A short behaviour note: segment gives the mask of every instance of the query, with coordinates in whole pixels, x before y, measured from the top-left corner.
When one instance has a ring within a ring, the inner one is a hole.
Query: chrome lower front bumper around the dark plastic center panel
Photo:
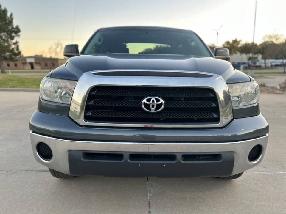
[[[236,142],[209,143],[153,143],[153,142],[103,142],[103,141],[72,141],[52,138],[30,132],[32,150],[36,161],[51,169],[70,174],[69,151],[110,151],[110,152],[234,152],[232,174],[237,174],[258,165],[264,157],[268,134],[255,139]],[[39,142],[49,145],[53,152],[50,161],[43,160],[37,153]],[[257,144],[262,146],[262,154],[254,161],[248,161],[248,153]]]

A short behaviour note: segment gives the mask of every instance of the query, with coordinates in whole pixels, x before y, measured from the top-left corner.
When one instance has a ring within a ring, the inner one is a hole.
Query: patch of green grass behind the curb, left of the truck
[[[39,88],[44,76],[0,74],[0,88]]]

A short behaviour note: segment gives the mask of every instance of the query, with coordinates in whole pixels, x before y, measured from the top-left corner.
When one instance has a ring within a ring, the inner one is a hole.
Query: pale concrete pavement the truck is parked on
[[[286,95],[262,94],[270,124],[262,163],[237,180],[56,179],[32,155],[38,92],[0,91],[0,213],[286,213]]]

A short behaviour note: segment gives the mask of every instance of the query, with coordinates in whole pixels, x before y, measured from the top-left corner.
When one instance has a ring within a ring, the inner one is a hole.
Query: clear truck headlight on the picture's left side
[[[76,83],[77,81],[45,77],[40,85],[41,98],[52,102],[70,104]]]

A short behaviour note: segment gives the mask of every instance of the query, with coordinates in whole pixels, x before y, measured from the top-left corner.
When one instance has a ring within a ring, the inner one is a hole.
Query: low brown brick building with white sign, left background
[[[43,57],[43,56],[23,56],[17,57],[15,62],[4,62],[5,70],[40,70],[55,69],[66,63],[66,59]]]

